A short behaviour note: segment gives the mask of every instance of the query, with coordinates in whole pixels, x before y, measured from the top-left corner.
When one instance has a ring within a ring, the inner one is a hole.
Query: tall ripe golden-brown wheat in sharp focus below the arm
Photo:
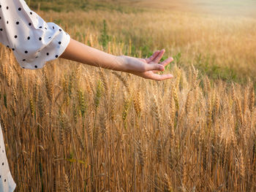
[[[252,83],[173,74],[155,82],[64,60],[24,70],[2,48],[17,191],[254,191]]]

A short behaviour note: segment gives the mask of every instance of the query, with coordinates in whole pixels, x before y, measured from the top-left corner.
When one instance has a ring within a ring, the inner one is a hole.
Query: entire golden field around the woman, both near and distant
[[[27,2],[113,55],[165,48],[174,78],[61,58],[22,69],[1,45],[1,127],[16,191],[256,191],[253,1]]]

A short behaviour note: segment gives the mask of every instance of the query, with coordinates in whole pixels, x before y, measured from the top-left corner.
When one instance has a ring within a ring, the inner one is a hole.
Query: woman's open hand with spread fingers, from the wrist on
[[[151,80],[167,80],[173,78],[173,74],[157,74],[165,70],[165,66],[173,61],[173,58],[167,58],[162,63],[161,60],[165,50],[157,50],[149,58],[134,58],[126,55],[118,56],[124,62],[124,72],[129,72],[140,77]]]

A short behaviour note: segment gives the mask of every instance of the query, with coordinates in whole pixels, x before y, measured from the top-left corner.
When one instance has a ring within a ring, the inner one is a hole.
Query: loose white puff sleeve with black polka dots
[[[23,69],[40,69],[59,58],[70,36],[56,23],[46,23],[23,0],[0,0],[0,42],[12,49]]]

